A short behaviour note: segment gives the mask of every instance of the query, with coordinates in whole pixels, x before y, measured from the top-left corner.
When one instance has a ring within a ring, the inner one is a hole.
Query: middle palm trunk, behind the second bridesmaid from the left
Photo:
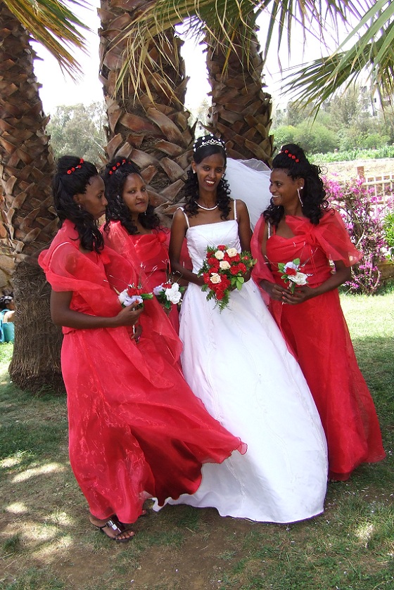
[[[156,44],[151,44],[149,53],[159,60],[160,67],[144,70],[137,93],[128,77],[122,89],[116,89],[125,49],[119,38],[134,18],[135,11],[127,10],[131,4],[101,0],[98,10],[101,81],[108,109],[106,150],[109,159],[123,155],[139,165],[151,203],[158,206],[177,199],[190,164],[193,129],[189,127],[190,113],[184,108],[187,78],[179,52],[182,41],[168,33],[165,53],[159,54]],[[140,10],[140,5],[136,10]],[[144,75],[150,81],[150,96],[144,86]],[[163,89],[165,78],[170,80],[174,96]]]

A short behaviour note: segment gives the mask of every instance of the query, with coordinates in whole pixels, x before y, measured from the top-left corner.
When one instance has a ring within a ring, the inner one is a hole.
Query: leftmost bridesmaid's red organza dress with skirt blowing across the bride
[[[72,291],[70,307],[115,316],[119,291],[136,280],[129,262],[110,248],[79,250],[65,222],[39,264],[53,290]],[[205,462],[245,451],[205,411],[179,371],[180,341],[155,300],[145,302],[143,333],[131,328],[63,328],[61,364],[68,395],[70,462],[91,513],[134,522],[144,499],[193,493]]]

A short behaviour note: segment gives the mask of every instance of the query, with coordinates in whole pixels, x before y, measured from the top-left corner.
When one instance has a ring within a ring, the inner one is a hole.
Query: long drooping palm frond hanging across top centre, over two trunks
[[[361,0],[152,0],[118,34],[116,42],[127,46],[123,53],[127,68],[120,71],[117,87],[128,75],[134,92],[138,90],[144,68],[152,71],[160,67],[148,48],[154,44],[160,58],[165,58],[165,31],[180,23],[187,21],[187,32],[195,39],[208,33],[212,44],[220,47],[224,54],[229,55],[241,47],[243,56],[248,56],[256,18],[263,11],[269,13],[266,53],[275,29],[279,32],[279,45],[285,30],[290,43],[294,21],[300,22],[305,30],[310,23],[317,23],[322,31],[326,18],[330,17],[335,24],[349,12],[360,15],[360,6]]]

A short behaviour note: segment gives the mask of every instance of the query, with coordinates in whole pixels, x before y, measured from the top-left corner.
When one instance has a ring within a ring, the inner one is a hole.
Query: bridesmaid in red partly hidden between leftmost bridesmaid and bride
[[[149,203],[148,191],[139,168],[133,162],[127,158],[114,158],[106,165],[102,177],[106,185],[107,216],[110,219],[102,228],[104,241],[129,259],[137,255],[146,277],[146,289],[151,291],[167,281],[170,271],[170,229],[160,224],[160,218]],[[187,267],[189,255],[186,244],[182,255],[182,262]],[[169,319],[174,330],[179,333],[176,305],[171,306]]]

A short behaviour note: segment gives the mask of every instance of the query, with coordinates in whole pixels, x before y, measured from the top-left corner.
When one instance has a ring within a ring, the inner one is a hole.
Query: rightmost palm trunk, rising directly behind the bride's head
[[[269,135],[272,101],[271,96],[263,91],[264,62],[257,37],[250,43],[248,56],[236,39],[235,49],[229,56],[209,34],[205,42],[208,44],[207,68],[212,89],[210,129],[225,141],[231,158],[257,158],[269,165],[274,151],[274,136]],[[227,70],[223,73],[227,57]]]

